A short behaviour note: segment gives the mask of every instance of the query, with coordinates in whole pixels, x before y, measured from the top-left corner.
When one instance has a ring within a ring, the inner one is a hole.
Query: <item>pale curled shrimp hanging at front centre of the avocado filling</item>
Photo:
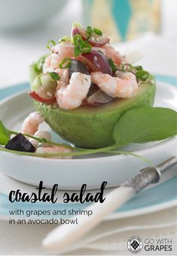
[[[74,109],[78,108],[90,89],[90,75],[75,72],[72,73],[69,85],[63,85],[58,81],[56,89],[56,101],[60,108]]]

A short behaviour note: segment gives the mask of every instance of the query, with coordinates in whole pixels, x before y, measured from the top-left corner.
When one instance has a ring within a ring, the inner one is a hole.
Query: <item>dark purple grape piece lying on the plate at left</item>
[[[10,142],[8,142],[8,144],[5,145],[5,148],[15,151],[32,153],[35,152],[35,147],[32,145],[31,142],[29,142],[28,139],[26,139],[25,136],[23,136],[22,133],[19,133],[17,136],[11,139]]]

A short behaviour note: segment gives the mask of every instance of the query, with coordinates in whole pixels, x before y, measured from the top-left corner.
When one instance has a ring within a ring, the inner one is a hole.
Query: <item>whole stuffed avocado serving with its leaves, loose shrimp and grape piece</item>
[[[50,53],[30,68],[36,111],[20,133],[0,120],[0,151],[58,159],[104,152],[142,158],[117,148],[176,135],[176,111],[152,108],[154,76],[133,66],[101,30],[75,23],[71,37],[50,40],[47,48]],[[41,130],[44,122],[71,144],[53,142]]]

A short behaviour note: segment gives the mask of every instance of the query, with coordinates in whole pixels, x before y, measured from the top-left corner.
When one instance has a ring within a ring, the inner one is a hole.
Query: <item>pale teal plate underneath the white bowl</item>
[[[177,86],[176,77],[172,76],[161,76],[156,75],[158,81],[172,84]],[[17,86],[10,86],[5,89],[0,89],[0,100],[16,93],[23,89],[28,89],[29,83],[23,83]],[[121,208],[111,214],[107,219],[118,219],[124,217],[133,217],[141,214],[148,214],[154,211],[160,211],[166,208],[170,208],[177,204],[177,176],[172,177],[172,179],[161,183],[159,186],[155,186],[151,189],[139,192],[139,194],[134,195],[133,198],[124,204]],[[83,210],[89,204],[48,204],[48,203],[20,203],[16,202],[11,204],[8,201],[8,195],[0,194],[0,217],[8,218],[10,217],[9,210],[15,210],[20,208],[22,210],[62,210],[66,208]],[[52,217],[50,215],[50,217]],[[63,217],[63,216],[58,216]],[[65,216],[67,217],[67,215]],[[44,216],[43,216],[44,218]],[[47,217],[46,217],[47,218]]]

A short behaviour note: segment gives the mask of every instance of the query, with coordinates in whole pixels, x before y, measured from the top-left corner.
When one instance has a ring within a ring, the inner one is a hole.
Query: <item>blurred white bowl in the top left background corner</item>
[[[0,30],[20,30],[46,22],[67,0],[0,0]]]

